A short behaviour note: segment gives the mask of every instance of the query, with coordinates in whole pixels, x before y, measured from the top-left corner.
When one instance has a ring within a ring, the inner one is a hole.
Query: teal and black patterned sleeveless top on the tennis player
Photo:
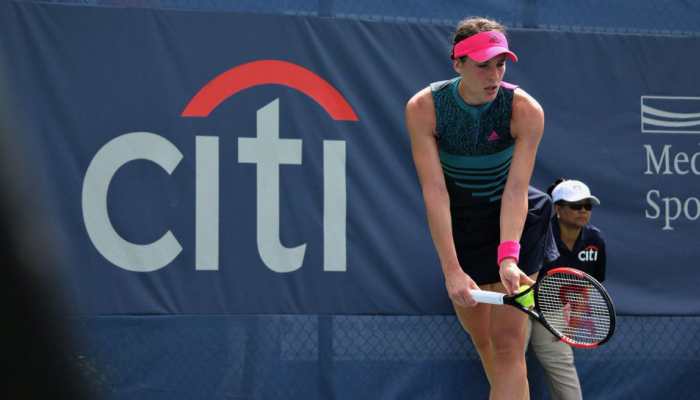
[[[459,95],[460,80],[430,84],[450,204],[452,208],[500,204],[513,158],[510,119],[517,86],[503,83],[493,101],[471,106]]]

